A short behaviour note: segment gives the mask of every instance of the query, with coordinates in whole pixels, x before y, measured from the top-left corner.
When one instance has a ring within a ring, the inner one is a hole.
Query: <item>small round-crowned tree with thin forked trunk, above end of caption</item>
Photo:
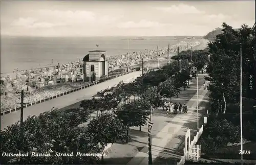
[[[110,143],[113,144],[118,140],[123,140],[125,128],[114,113],[101,113],[96,119],[89,123],[88,132],[91,135],[92,142],[95,145],[100,144],[103,153],[106,145]],[[104,155],[102,154],[102,161],[103,158]]]

